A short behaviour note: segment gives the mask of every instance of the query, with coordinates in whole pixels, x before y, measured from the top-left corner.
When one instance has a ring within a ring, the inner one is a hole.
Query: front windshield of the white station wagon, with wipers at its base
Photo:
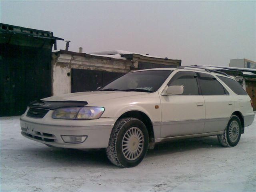
[[[170,70],[148,70],[128,73],[100,88],[99,91],[155,92],[171,72]]]

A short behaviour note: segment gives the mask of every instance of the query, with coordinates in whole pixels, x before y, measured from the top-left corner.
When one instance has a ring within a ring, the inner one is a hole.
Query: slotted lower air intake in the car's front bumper
[[[46,141],[46,142],[57,142],[57,138],[55,135],[50,133],[43,133],[34,131],[33,133],[28,133],[26,128],[21,128],[22,132],[21,134],[30,138],[34,138],[39,141]]]

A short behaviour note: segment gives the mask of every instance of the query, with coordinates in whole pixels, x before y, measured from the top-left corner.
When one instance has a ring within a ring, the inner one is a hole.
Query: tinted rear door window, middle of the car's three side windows
[[[198,75],[202,95],[228,94],[222,84],[220,84],[214,76],[204,73],[198,73]]]

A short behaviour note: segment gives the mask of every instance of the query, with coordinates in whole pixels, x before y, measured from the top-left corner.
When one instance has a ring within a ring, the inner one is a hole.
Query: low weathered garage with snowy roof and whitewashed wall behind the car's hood
[[[52,53],[52,95],[94,91],[133,70],[181,66],[181,60],[122,50]]]

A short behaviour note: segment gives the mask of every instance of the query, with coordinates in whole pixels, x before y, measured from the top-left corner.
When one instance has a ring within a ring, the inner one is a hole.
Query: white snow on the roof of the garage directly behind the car
[[[124,50],[108,50],[108,51],[90,52],[88,54],[94,55],[94,56],[106,56],[106,57],[112,57],[112,58],[118,58],[118,59],[120,59],[120,58],[126,59],[126,58],[122,57],[122,55],[137,54],[137,55],[141,55],[141,56],[145,56],[145,57],[166,59],[166,58],[162,58],[162,57],[158,57],[158,56],[140,54],[140,53],[124,51]],[[168,60],[168,58],[166,60]]]

